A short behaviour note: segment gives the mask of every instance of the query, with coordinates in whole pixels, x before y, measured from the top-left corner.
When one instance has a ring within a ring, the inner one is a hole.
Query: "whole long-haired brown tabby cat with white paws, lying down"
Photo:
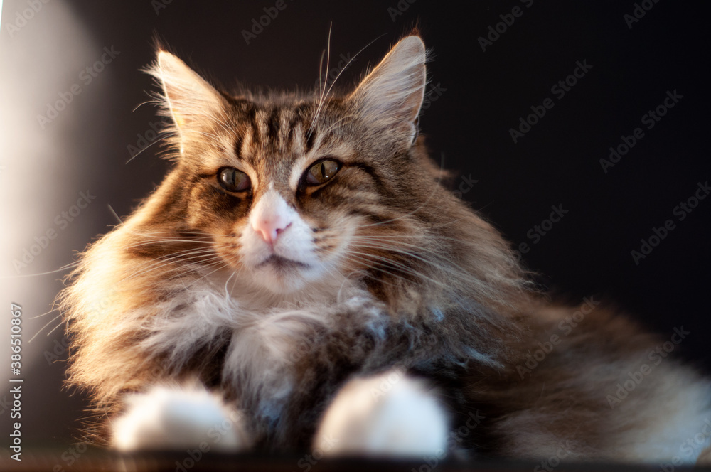
[[[442,184],[417,129],[426,62],[413,33],[354,90],[230,95],[159,48],[173,167],[60,294],[97,442],[684,463],[709,447],[710,380],[595,297],[548,301]]]

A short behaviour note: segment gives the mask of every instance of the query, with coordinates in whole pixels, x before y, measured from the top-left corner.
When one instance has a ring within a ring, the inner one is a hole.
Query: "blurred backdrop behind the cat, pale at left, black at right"
[[[711,370],[707,4],[5,0],[1,10],[0,343],[10,304],[21,305],[26,448],[69,448],[87,406],[62,387],[67,340],[49,312],[61,268],[117,223],[109,205],[129,214],[169,165],[139,72],[156,36],[225,87],[308,89],[329,24],[329,77],[355,57],[343,86],[417,25],[432,49],[420,127],[456,172],[452,191],[547,287],[573,303],[614,301],[662,338],[683,326],[677,352]]]

